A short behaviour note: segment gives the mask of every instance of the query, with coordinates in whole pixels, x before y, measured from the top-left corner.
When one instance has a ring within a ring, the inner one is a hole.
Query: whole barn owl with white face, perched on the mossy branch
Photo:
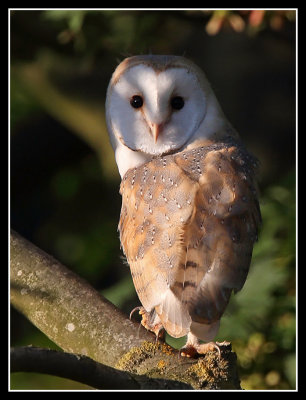
[[[187,335],[182,355],[220,351],[213,340],[231,293],[244,285],[260,224],[256,159],[205,74],[184,57],[122,61],[106,121],[142,324],[157,336]]]

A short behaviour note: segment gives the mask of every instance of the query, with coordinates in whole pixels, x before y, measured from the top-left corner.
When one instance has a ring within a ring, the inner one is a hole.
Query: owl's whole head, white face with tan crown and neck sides
[[[220,129],[224,115],[194,63],[179,56],[145,55],[126,58],[113,73],[106,121],[123,175],[152,156],[209,138]],[[131,156],[131,151],[138,154]],[[124,166],[122,157],[129,158]]]

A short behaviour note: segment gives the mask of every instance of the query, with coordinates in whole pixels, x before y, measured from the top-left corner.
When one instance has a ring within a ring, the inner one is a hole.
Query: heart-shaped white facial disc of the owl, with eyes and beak
[[[161,155],[179,150],[196,132],[205,118],[206,97],[187,68],[155,71],[139,64],[114,84],[107,113],[109,128],[122,144]]]

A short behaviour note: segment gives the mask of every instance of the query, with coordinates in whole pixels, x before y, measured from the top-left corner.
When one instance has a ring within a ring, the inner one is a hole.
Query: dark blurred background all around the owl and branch
[[[244,389],[295,388],[295,10],[10,10],[10,223],[128,313],[139,305],[119,248],[119,174],[104,102],[116,65],[176,54],[206,72],[260,160],[263,226],[219,340]],[[175,346],[182,341],[169,342]],[[11,345],[55,347],[11,310]],[[12,389],[77,389],[11,375]]]

